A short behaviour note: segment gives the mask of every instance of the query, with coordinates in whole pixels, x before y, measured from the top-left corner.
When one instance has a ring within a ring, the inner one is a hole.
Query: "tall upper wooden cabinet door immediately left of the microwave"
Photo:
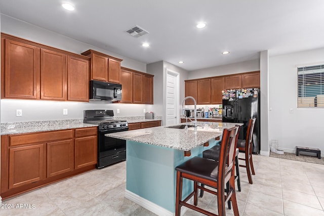
[[[89,101],[89,61],[67,56],[67,100]]]

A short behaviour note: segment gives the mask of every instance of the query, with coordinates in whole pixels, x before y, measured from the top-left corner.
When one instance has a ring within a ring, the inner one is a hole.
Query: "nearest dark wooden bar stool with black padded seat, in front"
[[[205,209],[199,208],[198,190],[204,190],[217,195],[218,215],[225,215],[225,203],[231,201],[234,215],[239,215],[236,196],[235,196],[235,176],[234,176],[234,158],[235,158],[235,136],[238,127],[224,129],[219,160],[214,161],[207,158],[193,157],[176,167],[177,188],[176,188],[176,213],[179,216],[181,206],[186,206],[193,210],[207,215],[217,215]],[[182,200],[182,180],[183,178],[193,181],[193,192]],[[225,184],[229,182],[229,191],[225,193]],[[198,185],[198,183],[217,188],[213,191]],[[193,196],[193,205],[187,201]]]

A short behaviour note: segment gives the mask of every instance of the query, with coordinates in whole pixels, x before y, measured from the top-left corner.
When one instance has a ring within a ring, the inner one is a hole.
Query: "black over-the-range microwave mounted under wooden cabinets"
[[[91,101],[121,100],[121,84],[91,80],[89,89]]]

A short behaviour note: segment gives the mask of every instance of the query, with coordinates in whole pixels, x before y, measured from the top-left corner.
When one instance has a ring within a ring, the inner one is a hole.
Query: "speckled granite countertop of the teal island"
[[[224,128],[233,127],[235,124],[239,123],[198,122],[196,128],[189,127],[188,129],[177,129],[159,126],[111,133],[105,136],[189,151],[199,145],[203,145],[211,139],[221,136]],[[192,123],[188,123],[188,125],[192,125]]]

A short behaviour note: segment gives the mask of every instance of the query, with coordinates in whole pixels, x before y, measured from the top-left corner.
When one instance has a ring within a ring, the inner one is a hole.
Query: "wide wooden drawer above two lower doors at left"
[[[72,130],[35,133],[27,135],[11,135],[9,137],[9,146],[17,146],[29,143],[49,142],[73,138]]]

